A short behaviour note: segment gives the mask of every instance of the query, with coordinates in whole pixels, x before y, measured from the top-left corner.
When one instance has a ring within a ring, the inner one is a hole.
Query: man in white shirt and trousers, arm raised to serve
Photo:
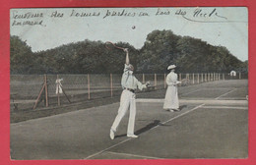
[[[138,138],[134,135],[134,125],[135,125],[135,116],[136,116],[136,102],[135,102],[135,90],[139,88],[147,88],[150,83],[142,84],[134,76],[134,68],[129,62],[128,49],[124,49],[126,52],[126,62],[124,65],[123,76],[121,80],[121,85],[123,87],[123,92],[120,99],[120,107],[118,109],[118,114],[115,117],[115,120],[110,129],[110,138],[114,139],[114,133],[117,131],[117,128],[125,116],[128,109],[130,109],[129,123],[127,129],[127,137],[129,138]]]

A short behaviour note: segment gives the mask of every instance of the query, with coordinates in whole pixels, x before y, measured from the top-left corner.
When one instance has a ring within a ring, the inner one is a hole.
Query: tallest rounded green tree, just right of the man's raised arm
[[[138,58],[139,72],[162,73],[177,57],[176,44],[180,36],[171,30],[154,30],[148,34]]]

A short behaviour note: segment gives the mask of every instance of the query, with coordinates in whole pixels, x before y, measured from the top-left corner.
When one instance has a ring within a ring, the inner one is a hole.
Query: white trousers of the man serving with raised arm
[[[121,94],[120,107],[118,109],[118,114],[115,117],[115,120],[111,127],[112,131],[116,132],[121,120],[123,119],[123,117],[125,116],[129,108],[130,108],[130,115],[129,115],[127,135],[134,135],[136,101],[135,101],[135,93],[129,90],[123,90]]]

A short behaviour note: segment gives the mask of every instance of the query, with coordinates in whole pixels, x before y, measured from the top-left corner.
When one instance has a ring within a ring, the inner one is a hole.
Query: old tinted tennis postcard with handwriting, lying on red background
[[[12,160],[248,158],[246,7],[13,8]]]

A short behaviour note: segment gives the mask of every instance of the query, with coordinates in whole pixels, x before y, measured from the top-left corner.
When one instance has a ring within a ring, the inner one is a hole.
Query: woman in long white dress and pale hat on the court
[[[177,74],[174,73],[175,68],[175,65],[170,65],[167,68],[168,70],[170,70],[170,73],[166,77],[166,83],[168,87],[165,93],[165,99],[163,103],[163,109],[170,112],[179,111],[177,84],[181,82],[177,81]]]

